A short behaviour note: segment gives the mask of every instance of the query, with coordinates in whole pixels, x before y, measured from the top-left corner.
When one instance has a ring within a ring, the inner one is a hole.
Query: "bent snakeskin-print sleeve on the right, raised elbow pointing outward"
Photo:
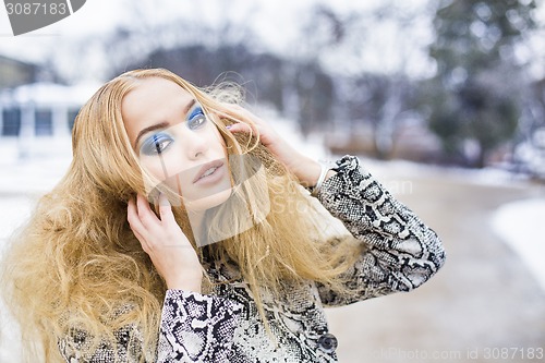
[[[427,281],[445,262],[437,234],[364,171],[355,157],[344,156],[334,170],[337,173],[324,182],[318,199],[365,249],[347,271],[347,286],[354,293],[343,297],[320,286],[323,303],[344,305],[410,291]]]

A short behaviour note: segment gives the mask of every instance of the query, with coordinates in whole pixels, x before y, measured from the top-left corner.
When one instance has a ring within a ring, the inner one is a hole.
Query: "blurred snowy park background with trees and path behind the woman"
[[[542,361],[544,25],[540,0],[92,0],[14,37],[2,8],[0,252],[100,84],[234,81],[303,153],[358,155],[445,242],[416,291],[328,311],[340,362]],[[17,362],[0,318],[0,362]]]

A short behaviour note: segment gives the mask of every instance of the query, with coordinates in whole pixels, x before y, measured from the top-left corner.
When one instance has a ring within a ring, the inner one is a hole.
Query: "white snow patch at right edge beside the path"
[[[545,238],[540,228],[545,216],[545,198],[508,203],[491,219],[494,231],[526,263],[545,290]]]

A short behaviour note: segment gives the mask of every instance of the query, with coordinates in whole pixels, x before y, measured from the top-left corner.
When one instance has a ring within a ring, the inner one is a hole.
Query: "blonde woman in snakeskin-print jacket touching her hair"
[[[140,70],[81,109],[66,176],[5,257],[8,304],[47,362],[336,362],[323,306],[443,265],[358,159],[320,166],[237,96]],[[328,237],[316,198],[350,234]]]

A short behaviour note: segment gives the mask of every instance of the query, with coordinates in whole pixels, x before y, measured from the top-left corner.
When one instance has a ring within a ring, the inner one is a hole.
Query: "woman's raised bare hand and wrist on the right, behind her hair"
[[[267,147],[269,152],[288,168],[288,170],[298,177],[301,184],[304,186],[313,186],[316,184],[322,169],[316,160],[299,153],[267,122],[256,117],[249,110],[238,105],[229,105],[227,107],[231,110],[231,112],[227,116],[241,118],[242,121],[251,121],[255,124],[255,128],[257,129],[256,131],[259,133],[259,142]],[[229,126],[229,131],[233,133],[250,132],[250,129],[245,123],[234,123]],[[334,171],[329,171],[328,177]]]

